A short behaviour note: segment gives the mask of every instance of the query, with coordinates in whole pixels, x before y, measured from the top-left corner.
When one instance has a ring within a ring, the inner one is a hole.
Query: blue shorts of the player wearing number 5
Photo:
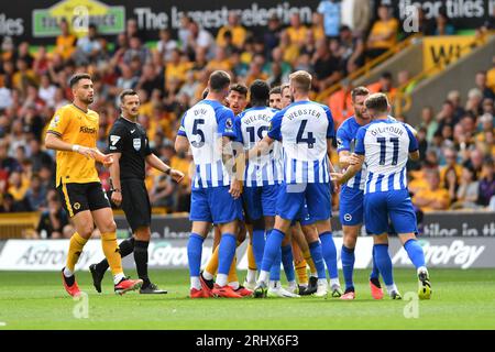
[[[190,221],[228,223],[243,220],[241,198],[233,199],[230,186],[193,189],[190,194]]]

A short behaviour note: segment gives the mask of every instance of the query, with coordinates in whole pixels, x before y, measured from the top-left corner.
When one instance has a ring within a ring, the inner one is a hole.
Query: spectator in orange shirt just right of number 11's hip
[[[438,169],[431,168],[426,172],[428,188],[421,189],[413,197],[415,206],[421,211],[447,210],[450,206],[449,191],[440,188],[440,176]]]

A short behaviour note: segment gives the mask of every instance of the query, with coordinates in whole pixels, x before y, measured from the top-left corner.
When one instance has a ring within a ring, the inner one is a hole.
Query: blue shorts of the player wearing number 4
[[[330,219],[331,207],[329,184],[280,185],[277,216],[283,219],[311,224]]]

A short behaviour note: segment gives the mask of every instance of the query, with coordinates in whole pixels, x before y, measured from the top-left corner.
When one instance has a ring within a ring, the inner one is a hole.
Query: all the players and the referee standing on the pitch
[[[88,108],[94,100],[90,76],[75,75],[70,87],[74,101],[55,112],[45,140],[46,147],[57,151],[57,188],[76,228],[62,271],[64,287],[72,296],[80,294],[75,265],[95,223],[106,255],[90,266],[98,292],[110,267],[118,294],[133,289],[166,294],[147,276],[151,206],[144,186],[145,163],[176,182],[184,174],[151,153],[146,131],[136,122],[140,100],[135,91],[121,94],[122,114],[110,132],[109,154],[103,154],[96,148],[98,113]],[[417,270],[419,298],[430,298],[429,274],[416,240],[416,215],[407,190],[407,160],[419,157],[416,132],[388,114],[385,95],[354,88],[354,116],[337,131],[339,164],[344,170],[337,173],[330,162],[336,138],[332,114],[309,99],[311,75],[304,70],[272,89],[263,80],[249,88],[231,85],[229,74],[217,70],[209,77],[204,100],[184,114],[175,148],[190,151],[195,166],[187,245],[190,297],[331,295],[354,299],[354,248],[364,223],[374,239],[372,296],[384,296],[382,275],[388,295],[402,298],[388,254],[392,228]],[[250,108],[244,110],[248,96]],[[109,166],[111,200],[122,206],[133,231],[120,245],[95,162]],[[330,224],[332,189],[340,189],[345,290],[340,286]],[[202,244],[212,226],[213,253],[201,272]],[[240,285],[235,250],[248,235],[249,270]],[[123,274],[121,257],[131,253],[139,279]],[[280,285],[280,264],[286,288]]]

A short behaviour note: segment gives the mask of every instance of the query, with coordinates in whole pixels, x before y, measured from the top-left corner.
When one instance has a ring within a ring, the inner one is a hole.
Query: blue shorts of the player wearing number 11
[[[364,195],[364,226],[370,234],[389,231],[388,219],[396,233],[417,233],[416,213],[407,189]]]

